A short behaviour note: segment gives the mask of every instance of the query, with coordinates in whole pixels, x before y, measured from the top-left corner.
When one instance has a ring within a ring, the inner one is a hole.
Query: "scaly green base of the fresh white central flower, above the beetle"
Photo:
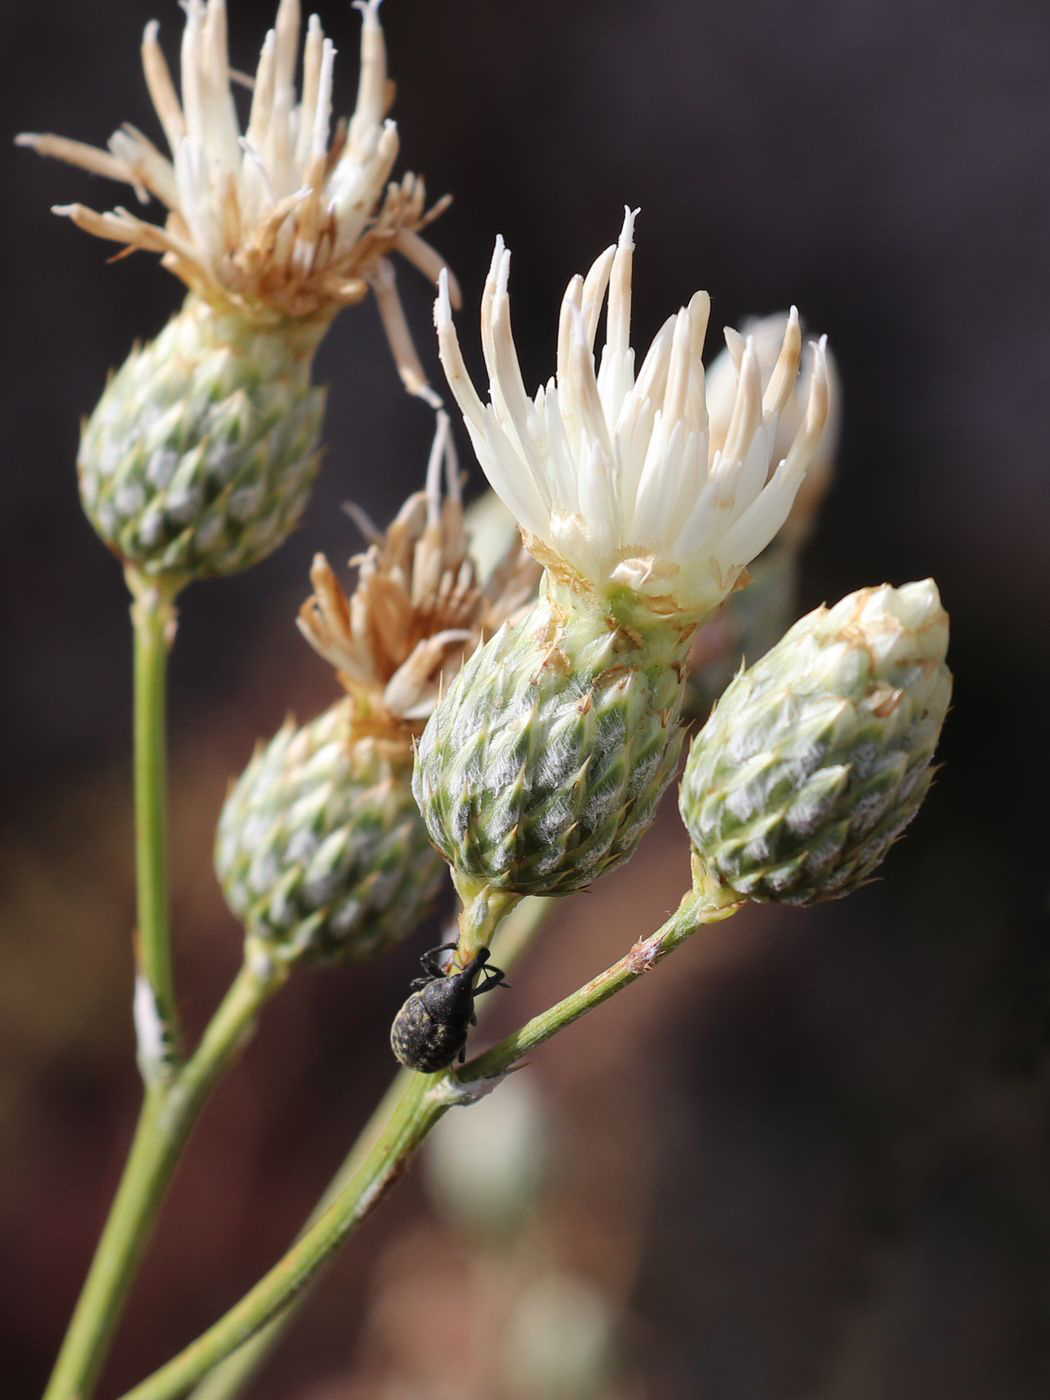
[[[413,790],[452,868],[510,893],[568,895],[622,865],[678,763],[692,631],[626,588],[601,599],[546,574],[419,743]]]

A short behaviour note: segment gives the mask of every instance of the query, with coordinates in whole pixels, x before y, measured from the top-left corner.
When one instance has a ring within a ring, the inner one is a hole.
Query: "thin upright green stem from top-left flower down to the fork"
[[[134,876],[139,937],[136,1030],[147,1085],[178,1054],[168,917],[167,672],[175,631],[174,588],[127,571],[134,595]]]

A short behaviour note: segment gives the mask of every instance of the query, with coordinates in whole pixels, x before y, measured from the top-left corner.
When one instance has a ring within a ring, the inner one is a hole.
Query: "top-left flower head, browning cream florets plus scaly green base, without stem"
[[[298,0],[281,0],[241,130],[224,0],[189,0],[179,99],[151,21],[143,70],[169,155],[126,123],[106,150],[18,137],[42,155],[129,185],[167,210],[154,224],[118,206],[55,213],[146,249],[188,288],[167,328],[136,347],[84,426],[78,476],[91,524],[125,563],[169,588],[265,559],[298,522],[318,470],[325,391],[314,354],[336,314],[375,293],[407,388],[434,398],[407,335],[391,255],[427,276],[420,238],[444,207],[423,181],[388,186],[398,130],[379,3],[358,7],[361,74],[351,118],[332,127],[335,49],[316,15],[295,92]]]

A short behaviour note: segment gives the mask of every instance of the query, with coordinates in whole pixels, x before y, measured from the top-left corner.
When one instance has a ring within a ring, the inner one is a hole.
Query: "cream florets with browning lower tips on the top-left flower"
[[[379,27],[379,0],[358,3],[361,73],[357,105],[332,125],[336,50],[311,15],[302,46],[302,91],[295,91],[298,0],[280,0],[259,55],[255,78],[230,69],[225,0],[186,0],[182,98],[157,41],[146,27],[143,69],[171,155],[125,125],[108,150],[60,136],[25,133],[17,140],[43,155],[130,185],[140,203],[154,196],[167,221],[148,223],[127,209],[97,213],[57,206],[101,238],[162,255],[164,266],[202,295],[237,309],[314,315],[360,301],[377,286],[391,330],[385,255],[402,253],[437,277],[441,259],[419,230],[444,207],[424,209],[423,181],[405,175],[388,185],[398,157],[398,129],[385,120],[392,88]],[[232,83],[252,88],[241,130]],[[402,318],[403,321],[403,318]]]

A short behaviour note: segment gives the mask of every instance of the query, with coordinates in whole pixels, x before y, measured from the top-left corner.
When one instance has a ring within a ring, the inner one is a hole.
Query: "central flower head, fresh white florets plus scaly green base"
[[[799,364],[794,311],[764,382],[745,343],[714,451],[700,358],[707,293],[668,318],[636,377],[633,256],[627,210],[617,244],[570,281],[557,374],[529,399],[511,336],[510,252],[497,241],[482,301],[487,406],[442,281],[435,316],[449,388],[486,476],[545,566],[535,608],[473,655],[420,741],[416,795],[470,895],[566,895],[631,855],[678,764],[693,634],[784,524],[820,442],[823,342],[794,441],[771,458]]]

